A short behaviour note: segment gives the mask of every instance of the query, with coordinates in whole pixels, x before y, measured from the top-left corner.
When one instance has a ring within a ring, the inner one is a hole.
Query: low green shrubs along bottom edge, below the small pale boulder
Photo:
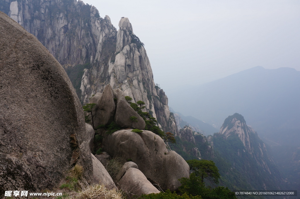
[[[160,192],[158,194],[141,195],[140,199],[201,199],[201,196],[191,196],[186,193],[178,195],[176,192],[172,193],[168,189],[166,192]]]

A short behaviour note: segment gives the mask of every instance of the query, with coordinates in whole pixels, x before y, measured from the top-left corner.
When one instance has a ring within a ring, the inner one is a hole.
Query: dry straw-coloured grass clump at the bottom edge
[[[76,199],[122,199],[122,192],[116,189],[107,189],[103,185],[90,185],[84,191],[80,192]]]

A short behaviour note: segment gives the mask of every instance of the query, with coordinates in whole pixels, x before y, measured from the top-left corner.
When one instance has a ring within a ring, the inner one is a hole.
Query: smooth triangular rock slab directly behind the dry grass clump
[[[109,189],[116,189],[116,185],[113,182],[113,179],[110,177],[110,174],[106,171],[105,167],[101,162],[91,154],[93,160],[93,183],[100,183],[106,186]]]

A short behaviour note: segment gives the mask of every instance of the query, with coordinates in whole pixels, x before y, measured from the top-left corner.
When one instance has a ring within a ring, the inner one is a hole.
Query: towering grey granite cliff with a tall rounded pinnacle
[[[101,18],[94,6],[80,0],[0,0],[0,10],[35,35],[69,71],[82,103],[110,84],[135,102],[144,101],[163,130],[176,134],[167,96],[155,87],[146,50],[128,18],[121,18],[117,31],[109,16]]]

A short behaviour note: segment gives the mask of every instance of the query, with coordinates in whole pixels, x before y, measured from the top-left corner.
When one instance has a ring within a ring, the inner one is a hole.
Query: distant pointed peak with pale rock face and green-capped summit
[[[220,132],[209,137],[209,141],[217,154],[214,161],[219,166],[221,175],[228,177],[227,183],[231,181],[232,176],[239,173],[244,180],[240,178],[239,185],[236,180],[234,186],[260,190],[282,187],[283,179],[267,147],[257,133],[247,126],[242,115],[235,113],[227,117]],[[248,187],[243,185],[245,182],[248,183]]]

